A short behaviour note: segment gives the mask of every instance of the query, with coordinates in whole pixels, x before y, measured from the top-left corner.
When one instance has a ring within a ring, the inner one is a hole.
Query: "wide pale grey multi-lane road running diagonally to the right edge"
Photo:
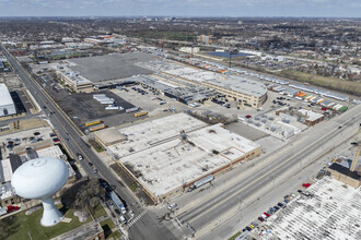
[[[307,164],[306,159],[310,156],[321,155],[333,148],[337,144],[338,137],[348,128],[354,128],[356,132],[354,123],[359,123],[360,119],[361,106],[357,106],[339,117],[319,123],[312,133],[294,141],[292,145],[286,146],[281,153],[265,157],[263,166],[256,166],[256,172],[245,172],[242,181],[237,184],[208,197],[207,201],[199,202],[184,213],[179,213],[177,218],[182,223],[189,223],[196,231],[209,226],[214,219],[222,217],[224,220],[223,216],[226,213],[230,214],[229,217],[236,214],[234,207],[241,203],[247,205],[245,204],[246,201],[257,201],[258,197],[277,188],[275,182],[287,182],[295,172],[301,170],[301,165]],[[339,128],[340,125],[341,128]]]

